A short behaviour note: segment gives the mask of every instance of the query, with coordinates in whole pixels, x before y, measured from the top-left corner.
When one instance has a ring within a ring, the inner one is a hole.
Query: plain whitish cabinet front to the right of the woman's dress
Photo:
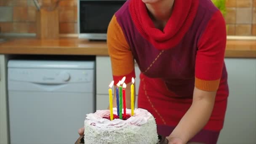
[[[256,59],[225,59],[229,98],[218,144],[256,144]]]

